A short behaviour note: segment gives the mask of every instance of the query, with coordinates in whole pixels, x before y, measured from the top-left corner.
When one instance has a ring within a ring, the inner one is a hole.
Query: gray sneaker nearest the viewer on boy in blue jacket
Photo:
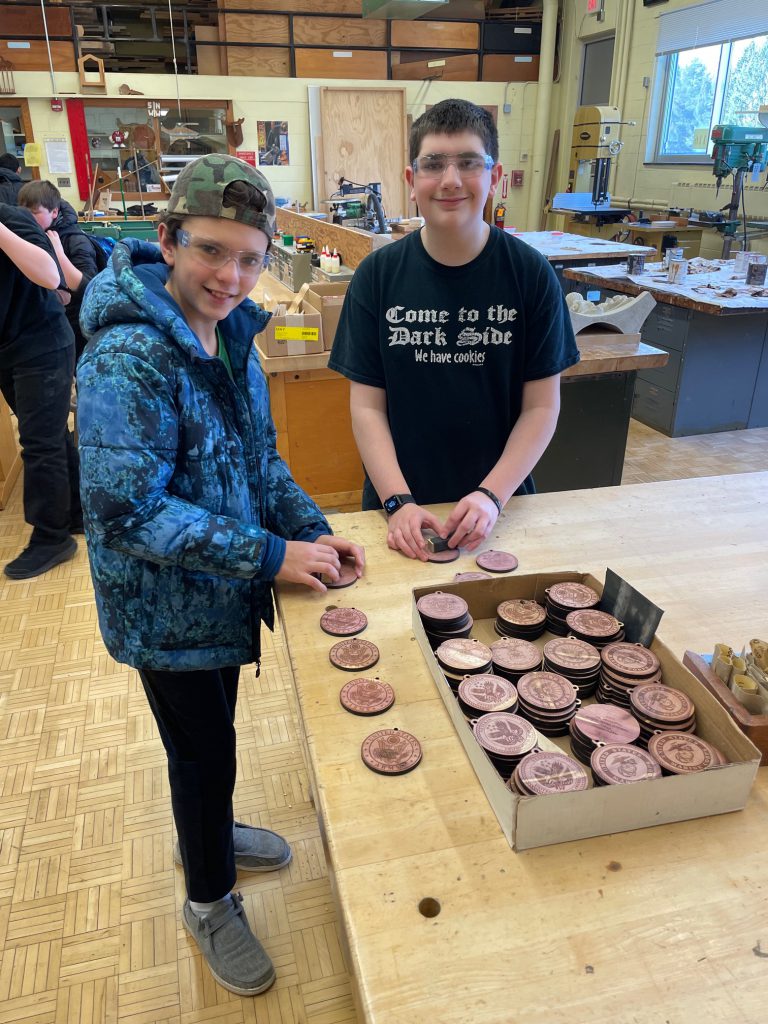
[[[184,900],[184,927],[200,946],[219,983],[238,995],[258,995],[274,984],[274,968],[253,934],[243,910],[243,897],[230,893],[206,918],[199,918]]]

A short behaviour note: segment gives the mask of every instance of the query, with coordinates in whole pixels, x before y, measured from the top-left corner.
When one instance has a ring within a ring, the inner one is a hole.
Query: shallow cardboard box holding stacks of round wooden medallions
[[[490,644],[499,639],[494,632],[494,622],[497,606],[502,601],[532,598],[544,604],[545,589],[566,580],[585,583],[602,593],[602,584],[594,577],[565,571],[441,584],[420,587],[413,592],[416,639],[510,846],[518,851],[528,850],[591,836],[606,836],[740,810],[746,803],[755,780],[760,752],[740,732],[717,699],[683,668],[658,637],[653,639],[651,650],[662,663],[664,681],[683,690],[693,700],[696,708],[696,733],[719,748],[730,762],[728,765],[691,775],[665,776],[647,782],[605,785],[582,793],[546,797],[518,797],[506,786],[476,742],[459,702],[440,671],[422,627],[416,602],[424,594],[437,590],[461,595],[469,604],[469,612],[474,618],[472,636]],[[542,647],[551,638],[552,634],[545,633],[537,645]],[[592,699],[585,702],[591,703]],[[541,737],[540,746],[566,752],[569,750],[567,737],[557,740]]]

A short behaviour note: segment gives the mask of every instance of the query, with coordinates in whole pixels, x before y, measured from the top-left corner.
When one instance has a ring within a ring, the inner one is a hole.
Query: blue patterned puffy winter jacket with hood
[[[278,455],[247,299],[206,353],[165,290],[160,250],[129,239],[88,287],[78,365],[81,497],[104,643],[137,668],[259,656],[286,540],[330,529]]]

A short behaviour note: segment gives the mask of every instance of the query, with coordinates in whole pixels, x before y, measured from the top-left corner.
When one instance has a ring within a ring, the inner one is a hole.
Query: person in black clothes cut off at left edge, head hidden
[[[53,249],[29,210],[0,203],[0,390],[18,420],[29,546],[5,566],[29,580],[77,551],[78,458],[68,430],[75,339]]]

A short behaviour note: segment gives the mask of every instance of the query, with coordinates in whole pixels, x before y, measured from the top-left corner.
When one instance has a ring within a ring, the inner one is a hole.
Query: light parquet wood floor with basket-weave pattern
[[[671,439],[633,421],[624,482],[764,469],[768,430]],[[26,542],[20,481],[0,563]],[[281,636],[238,708],[239,816],[293,845],[242,876],[278,968],[243,999],[213,983],[179,920],[165,756],[138,679],[106,653],[85,547],[27,583],[0,577],[0,1020],[5,1024],[354,1024]]]

